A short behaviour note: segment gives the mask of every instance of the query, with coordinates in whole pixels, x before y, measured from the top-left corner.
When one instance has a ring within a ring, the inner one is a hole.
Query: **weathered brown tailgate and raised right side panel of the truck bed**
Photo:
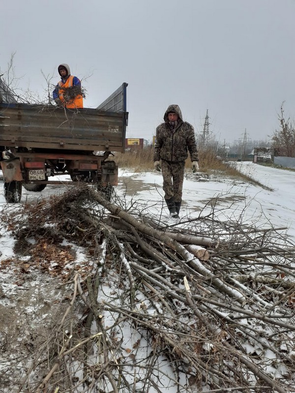
[[[0,103],[0,145],[31,149],[124,151],[128,112],[122,84],[99,109]],[[122,98],[121,98],[122,97]],[[114,112],[114,100],[121,101]]]

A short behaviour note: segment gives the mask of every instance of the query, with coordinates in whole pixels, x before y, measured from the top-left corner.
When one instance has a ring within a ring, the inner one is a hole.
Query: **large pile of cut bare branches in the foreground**
[[[126,210],[85,186],[9,217],[32,258],[40,239],[66,240],[91,266],[66,276],[68,309],[19,392],[294,392],[293,243],[214,214],[164,225]]]

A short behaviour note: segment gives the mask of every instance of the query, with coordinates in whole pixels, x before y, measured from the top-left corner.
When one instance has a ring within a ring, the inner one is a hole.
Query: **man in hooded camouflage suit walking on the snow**
[[[162,168],[163,190],[170,216],[179,218],[187,151],[195,172],[199,169],[197,144],[194,127],[182,120],[178,105],[169,105],[164,121],[156,129],[154,168],[159,171]]]

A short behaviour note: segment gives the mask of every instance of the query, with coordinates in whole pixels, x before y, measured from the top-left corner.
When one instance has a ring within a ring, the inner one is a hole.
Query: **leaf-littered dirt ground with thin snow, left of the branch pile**
[[[85,269],[86,275],[90,268],[86,258],[79,260],[74,244],[49,244],[41,239],[31,245],[30,255],[29,242],[26,247],[22,239],[14,239],[13,233],[3,237],[15,255],[0,261],[0,392],[14,393],[19,392],[20,382],[26,380],[30,368],[34,369],[33,360],[39,359],[43,365],[48,361],[38,358],[38,353],[44,357],[44,346],[67,309],[66,320],[77,322],[81,303],[69,308],[72,278],[75,271],[83,275]],[[35,377],[40,380],[40,375]],[[31,391],[28,388],[22,392]]]

